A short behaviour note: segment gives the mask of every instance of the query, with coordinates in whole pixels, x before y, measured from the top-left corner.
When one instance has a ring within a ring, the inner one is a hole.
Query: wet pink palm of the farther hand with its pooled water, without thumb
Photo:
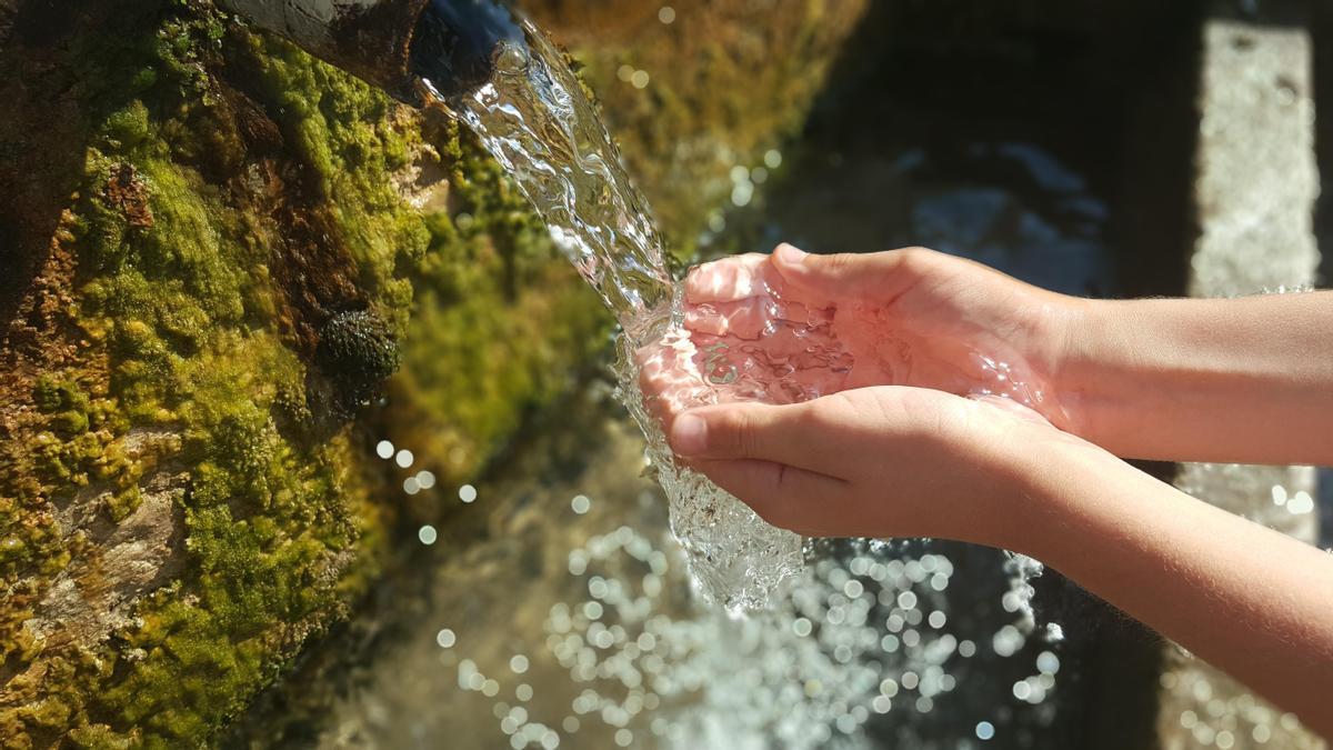
[[[918,255],[854,288],[784,276],[768,255],[696,268],[685,331],[640,352],[668,422],[709,403],[797,403],[869,386],[1000,396],[1058,423],[1025,287],[968,262]]]

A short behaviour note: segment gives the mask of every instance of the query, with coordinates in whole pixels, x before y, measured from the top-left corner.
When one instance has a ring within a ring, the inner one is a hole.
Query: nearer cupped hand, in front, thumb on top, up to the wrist
[[[694,408],[669,440],[773,526],[1009,548],[1024,543],[1024,486],[1042,451],[1081,442],[1012,400],[901,386]]]

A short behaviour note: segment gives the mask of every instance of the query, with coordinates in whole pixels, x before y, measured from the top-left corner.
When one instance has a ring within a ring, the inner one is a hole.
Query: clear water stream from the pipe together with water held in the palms
[[[696,587],[733,613],[765,609],[801,569],[801,538],[678,463],[660,418],[702,404],[796,403],[854,387],[856,362],[838,338],[837,311],[784,299],[778,280],[762,274],[741,279],[724,298],[686,299],[666,268],[652,212],[573,71],[539,29],[524,23],[523,36],[527,43],[499,43],[495,72],[479,88],[451,96],[425,77],[427,97],[480,137],[621,324],[620,396],[648,438]],[[720,332],[690,324],[720,308],[734,318],[737,306],[753,312],[750,327]],[[1040,386],[992,354],[973,352],[973,391],[1038,406]]]

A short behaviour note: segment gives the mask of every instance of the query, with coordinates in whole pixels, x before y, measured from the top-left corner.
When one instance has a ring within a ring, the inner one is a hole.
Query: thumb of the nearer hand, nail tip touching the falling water
[[[844,452],[824,439],[828,430],[812,407],[726,403],[692,408],[672,424],[669,442],[686,459],[760,459],[829,474],[845,474]]]

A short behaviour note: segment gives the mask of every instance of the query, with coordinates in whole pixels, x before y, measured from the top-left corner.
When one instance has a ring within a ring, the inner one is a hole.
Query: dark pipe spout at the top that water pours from
[[[256,27],[421,105],[421,73],[435,93],[465,95],[495,71],[503,43],[523,29],[495,0],[220,0]]]

